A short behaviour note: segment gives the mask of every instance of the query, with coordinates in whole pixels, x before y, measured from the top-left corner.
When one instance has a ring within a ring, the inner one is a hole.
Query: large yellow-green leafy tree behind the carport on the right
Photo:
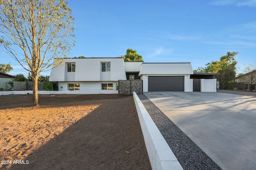
[[[228,83],[234,81],[236,77],[235,56],[238,52],[227,52],[227,55],[221,56],[220,61],[212,61],[206,64],[205,72],[220,73],[217,80],[220,83],[220,88],[227,89]]]

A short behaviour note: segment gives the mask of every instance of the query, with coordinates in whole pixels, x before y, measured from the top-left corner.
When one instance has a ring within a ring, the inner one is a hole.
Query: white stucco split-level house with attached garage
[[[143,80],[143,92],[193,91],[191,63],[124,62],[123,58],[72,58],[52,68],[50,81],[59,91],[117,94],[118,80]]]

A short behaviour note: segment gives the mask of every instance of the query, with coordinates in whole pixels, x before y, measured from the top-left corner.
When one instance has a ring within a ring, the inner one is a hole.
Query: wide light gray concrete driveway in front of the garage
[[[256,97],[145,92],[223,170],[256,169]]]

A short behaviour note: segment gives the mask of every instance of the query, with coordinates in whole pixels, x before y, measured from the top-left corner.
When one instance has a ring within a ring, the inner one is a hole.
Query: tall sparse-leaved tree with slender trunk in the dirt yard
[[[39,105],[38,75],[63,63],[74,46],[74,18],[67,4],[65,0],[0,0],[0,46],[32,77],[35,106]]]

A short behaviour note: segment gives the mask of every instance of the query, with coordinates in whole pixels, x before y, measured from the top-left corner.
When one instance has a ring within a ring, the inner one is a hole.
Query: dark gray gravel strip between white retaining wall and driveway
[[[138,94],[138,97],[184,170],[221,170],[144,94]]]

